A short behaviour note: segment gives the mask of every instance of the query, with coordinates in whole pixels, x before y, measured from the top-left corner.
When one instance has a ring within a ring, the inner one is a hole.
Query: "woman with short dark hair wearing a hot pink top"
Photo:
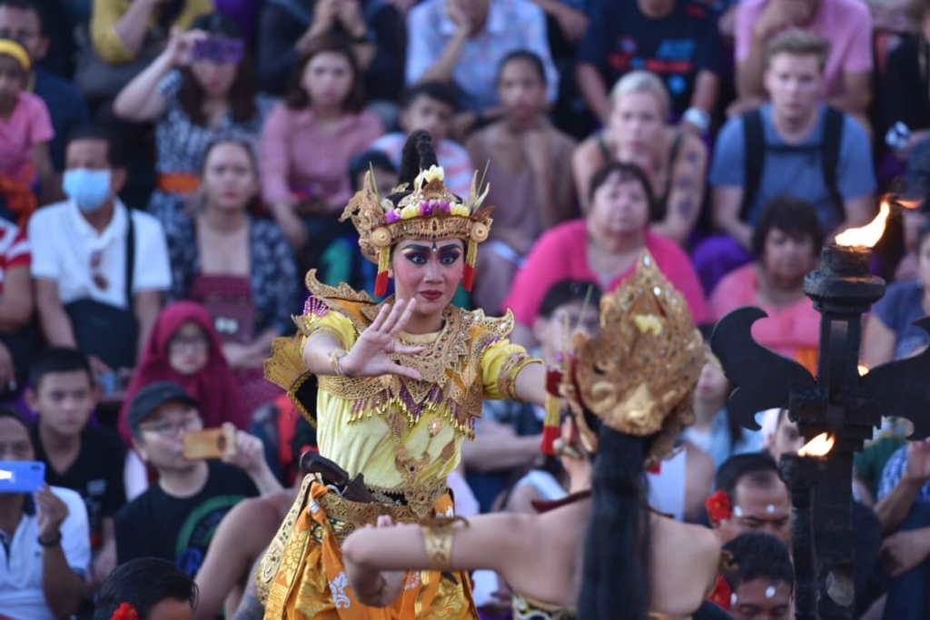
[[[573,279],[597,283],[604,291],[619,286],[644,250],[684,295],[695,323],[710,318],[704,292],[684,250],[649,230],[654,204],[649,180],[636,165],[605,165],[593,178],[591,208],[583,219],[543,233],[526,257],[503,302],[513,310],[513,340],[531,344],[530,326],[551,284]]]

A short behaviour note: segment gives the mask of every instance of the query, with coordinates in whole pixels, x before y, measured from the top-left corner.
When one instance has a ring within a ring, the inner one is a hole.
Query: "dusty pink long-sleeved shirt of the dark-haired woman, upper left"
[[[272,108],[261,130],[261,193],[266,204],[291,194],[323,194],[334,209],[352,197],[349,162],[384,133],[372,112],[346,114],[332,133],[323,133],[310,110]]]

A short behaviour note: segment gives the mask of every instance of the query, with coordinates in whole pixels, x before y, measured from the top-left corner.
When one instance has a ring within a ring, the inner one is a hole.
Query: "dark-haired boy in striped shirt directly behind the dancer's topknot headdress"
[[[474,165],[465,147],[449,139],[456,112],[458,99],[453,86],[445,82],[422,82],[410,86],[404,94],[398,118],[402,131],[392,131],[381,136],[370,149],[384,152],[391,158],[394,167],[399,168],[407,136],[418,129],[428,131],[436,150],[436,159],[445,170],[445,187],[457,196],[467,196],[472,188]],[[379,183],[378,187],[387,186]]]

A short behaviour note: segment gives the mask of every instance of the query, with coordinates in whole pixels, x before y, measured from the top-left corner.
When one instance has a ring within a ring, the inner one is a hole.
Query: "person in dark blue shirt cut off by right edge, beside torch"
[[[917,234],[917,279],[888,284],[875,302],[862,334],[862,363],[879,364],[909,357],[930,343],[930,336],[913,322],[930,313],[930,223]]]

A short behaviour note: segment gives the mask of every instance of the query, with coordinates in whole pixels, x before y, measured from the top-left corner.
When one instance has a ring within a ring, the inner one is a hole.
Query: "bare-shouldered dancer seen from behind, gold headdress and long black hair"
[[[392,524],[356,532],[345,564],[371,605],[397,594],[391,571],[492,569],[514,592],[517,620],[704,620],[721,560],[707,528],[650,510],[644,470],[671,455],[694,419],[706,348],[684,297],[645,253],[601,299],[599,336],[575,336],[561,394],[570,405],[556,451],[574,493],[541,514]]]

